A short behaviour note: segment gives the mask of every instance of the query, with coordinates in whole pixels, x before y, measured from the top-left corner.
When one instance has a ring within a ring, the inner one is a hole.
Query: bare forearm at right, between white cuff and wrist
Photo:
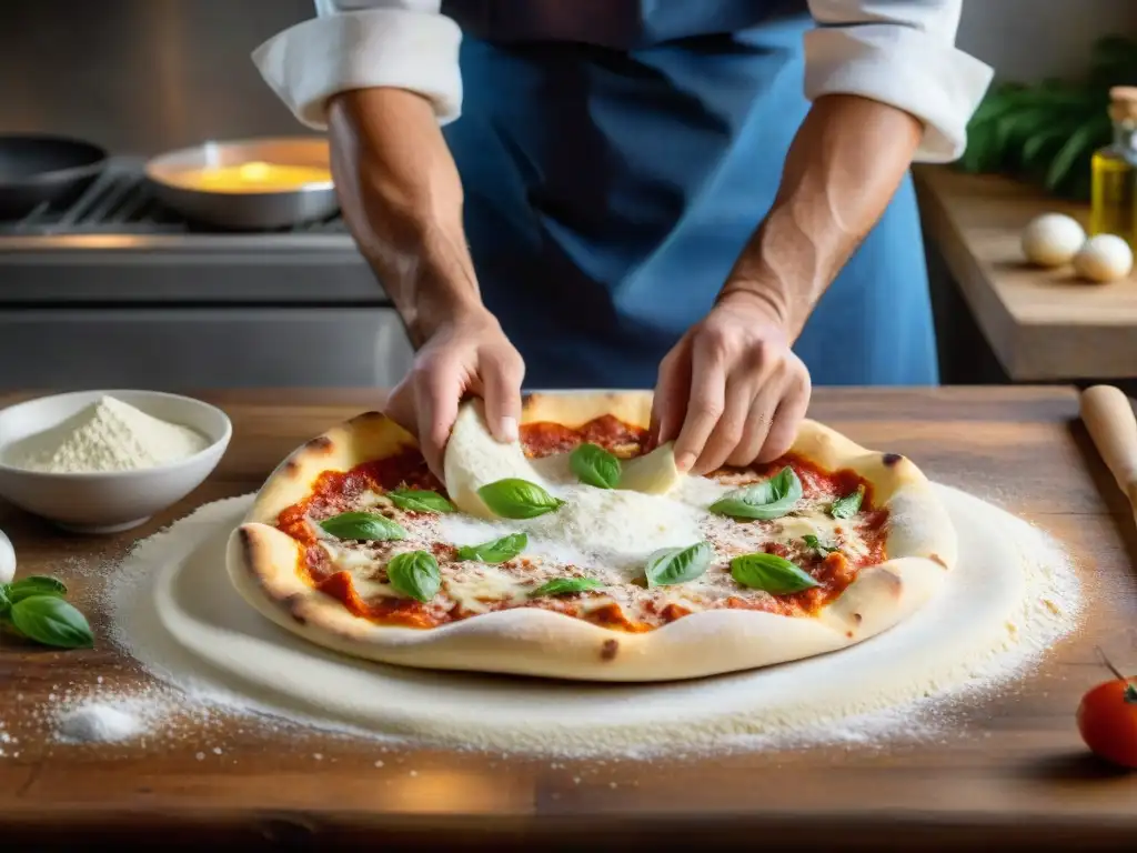
[[[819,98],[790,147],[774,204],[722,296],[762,303],[797,338],[814,305],[888,206],[921,123],[868,98]]]

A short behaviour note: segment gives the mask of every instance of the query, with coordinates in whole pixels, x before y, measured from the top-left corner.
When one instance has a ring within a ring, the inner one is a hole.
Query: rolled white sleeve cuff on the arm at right
[[[860,94],[911,113],[924,124],[915,160],[949,163],[966,148],[968,122],[993,69],[906,26],[820,27],[805,35],[805,93]]]

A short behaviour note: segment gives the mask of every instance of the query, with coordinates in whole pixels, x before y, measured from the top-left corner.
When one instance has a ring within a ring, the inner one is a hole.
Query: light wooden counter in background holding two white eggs
[[[1020,232],[1031,218],[1065,213],[1086,225],[1084,205],[948,167],[915,174],[926,235],[1012,380],[1137,379],[1137,272],[1090,284],[1069,267],[1023,260]]]

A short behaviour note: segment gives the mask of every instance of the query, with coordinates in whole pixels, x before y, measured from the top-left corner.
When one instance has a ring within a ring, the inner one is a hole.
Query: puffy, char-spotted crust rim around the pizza
[[[646,426],[650,392],[538,394],[522,423],[580,426],[601,414]],[[887,562],[864,569],[813,618],[761,611],[692,613],[644,633],[601,628],[548,610],[495,611],[432,629],[379,626],[314,590],[296,571],[300,546],[272,527],[307,497],[325,470],[414,446],[377,413],[359,415],[314,439],[268,478],[227,546],[230,578],[263,615],[309,641],[356,657],[409,666],[594,681],[656,681],[756,669],[838,651],[891,628],[946,582],[956,558],[952,522],[930,483],[907,458],[866,450],[815,421],[804,421],[792,450],[827,469],[849,467],[873,485],[890,512]]]

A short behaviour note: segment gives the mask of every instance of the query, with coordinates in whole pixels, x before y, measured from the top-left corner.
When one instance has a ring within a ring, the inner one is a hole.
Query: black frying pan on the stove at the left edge
[[[0,220],[80,196],[107,165],[91,142],[40,133],[0,134]]]

